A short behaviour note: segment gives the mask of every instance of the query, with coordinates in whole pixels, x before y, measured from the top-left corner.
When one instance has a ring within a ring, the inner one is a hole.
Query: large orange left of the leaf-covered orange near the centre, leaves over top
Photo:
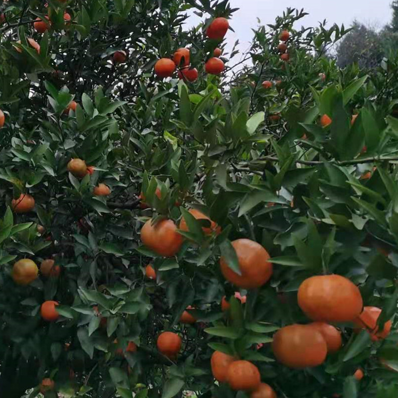
[[[149,219],[141,228],[142,243],[161,256],[176,255],[183,244],[183,236],[177,232],[174,221],[163,219],[155,225],[151,222]]]

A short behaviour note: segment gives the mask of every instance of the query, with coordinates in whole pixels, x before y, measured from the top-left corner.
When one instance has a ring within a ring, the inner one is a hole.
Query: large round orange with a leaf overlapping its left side
[[[237,239],[232,242],[239,261],[242,275],[232,271],[223,257],[220,258],[221,272],[224,278],[243,289],[263,286],[272,275],[270,255],[259,243],[250,239]]]

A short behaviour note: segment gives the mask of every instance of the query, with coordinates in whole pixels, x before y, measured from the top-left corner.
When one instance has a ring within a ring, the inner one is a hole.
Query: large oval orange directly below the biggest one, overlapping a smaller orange
[[[272,350],[276,359],[289,368],[318,366],[326,358],[327,345],[322,334],[308,325],[289,325],[274,334]]]

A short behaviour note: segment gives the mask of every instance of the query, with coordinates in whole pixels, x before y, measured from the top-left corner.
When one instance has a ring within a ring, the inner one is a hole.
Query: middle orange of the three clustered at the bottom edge
[[[227,369],[227,383],[235,391],[256,390],[261,383],[260,372],[249,361],[234,361]]]

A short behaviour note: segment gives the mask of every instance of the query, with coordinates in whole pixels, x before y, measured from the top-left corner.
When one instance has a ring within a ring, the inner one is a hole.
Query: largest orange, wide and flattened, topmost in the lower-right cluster
[[[363,301],[358,287],[349,279],[322,275],[301,283],[298,305],[312,320],[350,322],[362,312]]]

